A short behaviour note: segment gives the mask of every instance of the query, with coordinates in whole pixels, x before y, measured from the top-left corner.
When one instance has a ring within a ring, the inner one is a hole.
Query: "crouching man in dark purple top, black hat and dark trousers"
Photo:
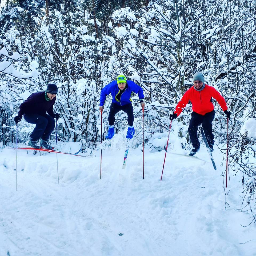
[[[16,124],[21,121],[22,116],[28,123],[35,124],[35,129],[29,136],[29,146],[33,148],[52,149],[48,139],[55,127],[54,118],[59,119],[59,114],[53,112],[57,93],[58,87],[52,83],[47,86],[46,91],[32,93],[21,103],[18,115],[14,117]],[[40,138],[40,145],[38,145]]]

